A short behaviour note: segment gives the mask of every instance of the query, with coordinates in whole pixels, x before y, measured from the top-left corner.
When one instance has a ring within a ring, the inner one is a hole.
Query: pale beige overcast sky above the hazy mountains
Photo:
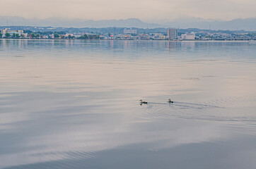
[[[196,17],[232,20],[256,17],[256,0],[7,0],[0,15],[144,21]]]

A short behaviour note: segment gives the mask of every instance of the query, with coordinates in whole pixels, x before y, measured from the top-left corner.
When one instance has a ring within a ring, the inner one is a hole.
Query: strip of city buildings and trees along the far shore
[[[45,28],[45,27],[24,27],[25,30],[18,30],[19,27],[11,26],[11,27],[1,27],[0,33],[1,38],[37,38],[37,39],[123,39],[123,40],[256,40],[256,34],[253,31],[209,31],[209,30],[195,30],[195,32],[190,32],[190,30],[178,30],[170,29],[166,34],[162,28],[158,31],[152,30],[144,30],[144,33],[137,33],[137,30],[132,30],[130,28],[124,29],[120,28],[120,30],[115,32],[97,32],[96,34],[92,31],[85,32],[82,31],[74,31],[72,29],[63,30],[64,28]],[[37,29],[37,30],[35,30]],[[52,31],[49,31],[51,29]],[[99,30],[100,31],[100,30]],[[109,30],[112,31],[112,30]],[[120,31],[124,31],[126,34],[120,34]],[[28,33],[26,33],[28,32]],[[53,32],[53,33],[52,33]],[[67,33],[66,33],[67,32]],[[141,31],[140,31],[141,32]],[[147,33],[146,33],[147,32]],[[8,33],[6,37],[6,33]],[[54,34],[57,34],[55,37]],[[137,34],[135,34],[137,33]],[[29,35],[28,35],[29,34]],[[52,34],[52,35],[51,35]],[[87,38],[84,35],[87,35]],[[37,35],[37,36],[35,36]],[[40,36],[38,36],[40,35]],[[196,36],[197,35],[197,36]]]

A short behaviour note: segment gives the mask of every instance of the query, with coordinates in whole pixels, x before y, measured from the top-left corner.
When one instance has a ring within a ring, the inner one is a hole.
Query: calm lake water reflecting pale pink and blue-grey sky
[[[255,110],[249,42],[0,40],[0,168],[255,169]]]

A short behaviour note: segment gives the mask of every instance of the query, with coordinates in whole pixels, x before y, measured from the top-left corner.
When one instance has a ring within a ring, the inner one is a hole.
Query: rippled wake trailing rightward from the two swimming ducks
[[[235,121],[255,122],[254,115],[233,113],[232,108],[255,105],[256,96],[241,96],[231,98],[214,99],[203,103],[189,103],[174,101],[173,104],[148,102],[143,105],[143,116],[147,118],[182,118],[187,120],[214,120],[214,121]],[[245,104],[246,103],[246,104]],[[226,112],[231,112],[226,114]]]

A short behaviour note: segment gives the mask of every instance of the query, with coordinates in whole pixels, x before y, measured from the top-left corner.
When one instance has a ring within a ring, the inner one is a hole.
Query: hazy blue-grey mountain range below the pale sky
[[[27,19],[17,16],[0,16],[0,26],[51,26],[51,27],[176,27],[211,30],[256,30],[256,18],[234,20],[204,20],[202,18],[180,18],[166,23],[145,23],[136,18],[121,20],[82,20],[82,19]]]

